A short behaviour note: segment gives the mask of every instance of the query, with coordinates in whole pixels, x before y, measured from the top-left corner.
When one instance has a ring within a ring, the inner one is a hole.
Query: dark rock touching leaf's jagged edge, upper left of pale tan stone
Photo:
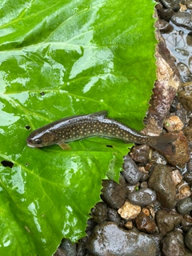
[[[120,208],[126,200],[126,182],[125,178],[120,176],[119,184],[110,180],[102,182],[102,195],[101,198],[111,208]]]

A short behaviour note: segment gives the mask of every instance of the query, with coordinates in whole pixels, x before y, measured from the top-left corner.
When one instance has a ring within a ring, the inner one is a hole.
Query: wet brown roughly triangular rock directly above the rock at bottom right
[[[174,212],[168,213],[166,210],[158,210],[156,222],[159,232],[165,236],[167,232],[170,232],[175,226],[182,222],[182,215]]]

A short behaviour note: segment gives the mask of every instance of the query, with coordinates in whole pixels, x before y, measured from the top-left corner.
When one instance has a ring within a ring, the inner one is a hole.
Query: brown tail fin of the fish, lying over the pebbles
[[[155,137],[154,142],[150,143],[150,146],[164,154],[173,155],[175,153],[175,147],[172,142],[176,141],[177,138],[177,135],[163,134]]]

